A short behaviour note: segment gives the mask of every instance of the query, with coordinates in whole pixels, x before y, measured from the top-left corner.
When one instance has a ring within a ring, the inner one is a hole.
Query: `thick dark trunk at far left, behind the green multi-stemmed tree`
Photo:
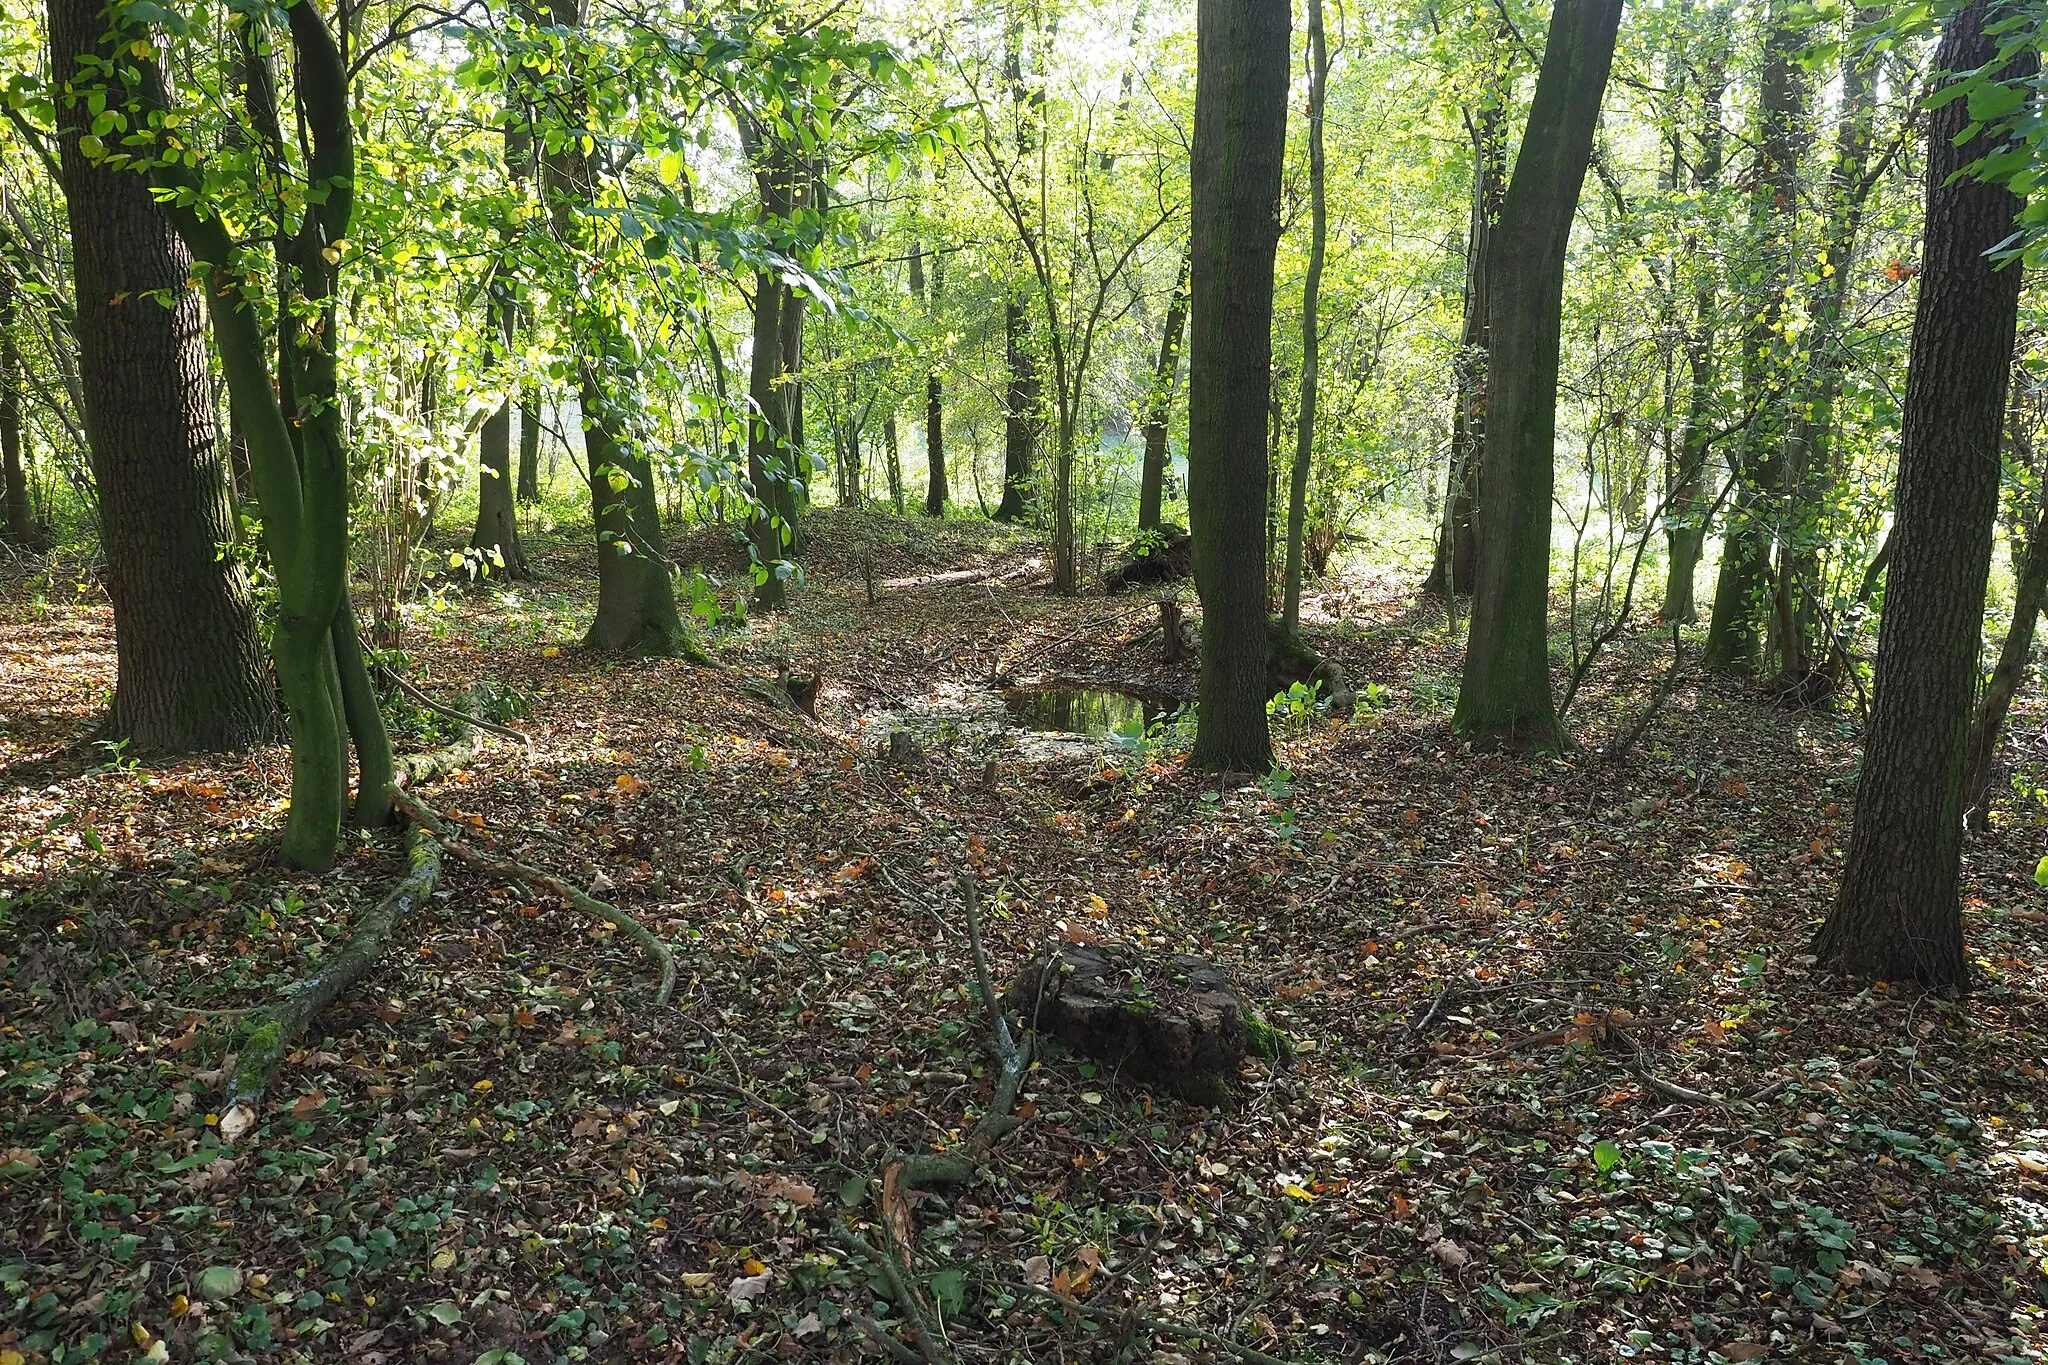
[[[80,147],[84,92],[102,84],[80,57],[109,53],[102,6],[51,0],[49,39],[57,88],[80,88],[57,123],[82,415],[115,608],[113,729],[135,753],[240,749],[274,733],[276,702],[248,579],[221,555],[233,518],[193,256],[143,176],[94,166]]]

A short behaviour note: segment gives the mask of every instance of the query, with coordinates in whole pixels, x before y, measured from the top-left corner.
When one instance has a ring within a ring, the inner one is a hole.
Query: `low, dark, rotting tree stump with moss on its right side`
[[[1206,958],[1063,943],[1034,958],[1004,993],[1024,1027],[1196,1103],[1225,1099],[1253,1033],[1266,1025]]]

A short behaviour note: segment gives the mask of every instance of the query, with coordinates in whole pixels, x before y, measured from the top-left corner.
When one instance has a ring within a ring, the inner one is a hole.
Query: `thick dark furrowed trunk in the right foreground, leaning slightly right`
[[[1974,0],[1948,20],[1935,72],[1995,61],[1993,18]],[[2021,47],[2005,80],[2030,80]],[[1815,939],[1851,976],[1962,988],[1962,810],[1985,577],[1999,512],[1999,428],[2011,375],[2019,266],[1997,268],[2023,207],[1964,170],[1982,156],[1968,100],[1929,115],[1927,225],[1901,424],[1892,565],[1878,628],[1876,698],[1864,737],[1855,829],[1841,894]]]

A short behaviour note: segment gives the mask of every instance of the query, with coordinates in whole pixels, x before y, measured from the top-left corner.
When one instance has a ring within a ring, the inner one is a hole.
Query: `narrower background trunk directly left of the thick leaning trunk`
[[[1450,413],[1450,473],[1444,477],[1444,522],[1423,591],[1470,593],[1479,573],[1479,467],[1487,454],[1487,270],[1493,233],[1507,194],[1507,135],[1499,96],[1470,121],[1473,215],[1464,248],[1464,327],[1458,336]]]

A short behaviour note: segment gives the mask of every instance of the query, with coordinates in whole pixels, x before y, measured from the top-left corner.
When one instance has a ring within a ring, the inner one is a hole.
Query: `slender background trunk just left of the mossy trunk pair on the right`
[[[1718,37],[1716,37],[1718,41]],[[1696,192],[1712,194],[1720,184],[1724,133],[1720,98],[1729,86],[1726,65],[1716,49],[1700,84],[1700,156],[1692,168]],[[1686,256],[1694,262],[1692,329],[1686,336],[1686,440],[1679,446],[1679,467],[1669,473],[1671,505],[1665,512],[1665,598],[1659,620],[1692,624],[1700,620],[1694,602],[1694,577],[1700,571],[1700,551],[1706,546],[1706,456],[1708,426],[1718,409],[1718,379],[1714,368],[1716,315],[1720,291],[1714,268],[1698,260],[1698,231],[1686,237]]]

